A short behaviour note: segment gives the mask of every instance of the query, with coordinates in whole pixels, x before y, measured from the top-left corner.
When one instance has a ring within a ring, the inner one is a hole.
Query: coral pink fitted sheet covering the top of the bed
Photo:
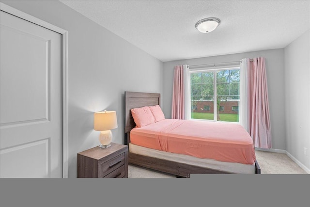
[[[130,142],[197,158],[254,164],[252,138],[239,124],[164,119],[130,131]]]

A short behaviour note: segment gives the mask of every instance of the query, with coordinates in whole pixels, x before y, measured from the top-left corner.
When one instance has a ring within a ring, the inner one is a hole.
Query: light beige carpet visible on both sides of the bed
[[[255,150],[261,174],[307,174],[286,154]],[[175,178],[175,175],[162,173],[137,165],[128,165],[128,178]]]

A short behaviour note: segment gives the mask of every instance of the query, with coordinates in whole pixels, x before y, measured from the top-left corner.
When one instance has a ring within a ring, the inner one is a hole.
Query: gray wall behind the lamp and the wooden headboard
[[[124,91],[162,93],[158,59],[60,1],[1,1],[68,31],[69,177],[77,153],[99,144],[93,112],[115,110],[113,142],[124,143]]]

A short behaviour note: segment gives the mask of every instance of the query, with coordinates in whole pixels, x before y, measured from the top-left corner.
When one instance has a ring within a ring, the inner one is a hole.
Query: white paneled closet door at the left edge
[[[62,177],[62,34],[0,11],[0,177]]]

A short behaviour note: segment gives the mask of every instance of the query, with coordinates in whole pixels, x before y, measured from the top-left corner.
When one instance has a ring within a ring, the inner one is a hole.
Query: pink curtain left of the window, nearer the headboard
[[[171,119],[184,119],[184,74],[183,65],[174,67]]]

